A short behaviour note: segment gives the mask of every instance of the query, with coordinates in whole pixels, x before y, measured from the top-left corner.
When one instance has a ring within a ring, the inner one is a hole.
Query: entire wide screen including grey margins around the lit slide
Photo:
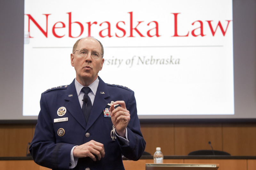
[[[13,63],[1,63],[0,120],[36,120],[41,93],[75,78],[70,53],[87,36],[104,46],[100,78],[135,92],[141,120],[256,118],[255,1],[23,3],[3,9],[19,19],[1,33]]]

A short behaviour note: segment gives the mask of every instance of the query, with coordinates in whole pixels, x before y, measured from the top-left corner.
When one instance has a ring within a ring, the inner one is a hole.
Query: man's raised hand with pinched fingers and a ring
[[[114,105],[121,107],[114,107]],[[126,109],[124,101],[115,101],[110,107],[110,116],[116,132],[125,138],[125,129],[130,121],[130,112]]]

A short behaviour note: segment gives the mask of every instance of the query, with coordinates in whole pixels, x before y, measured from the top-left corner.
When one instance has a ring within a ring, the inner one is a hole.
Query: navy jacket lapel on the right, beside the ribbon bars
[[[107,85],[103,82],[103,80],[101,80],[100,77],[98,78],[100,82],[95,95],[95,99],[93,102],[88,124],[86,126],[86,130],[92,126],[92,124],[98,119],[99,116],[103,116],[102,112],[105,109],[105,107],[108,105],[108,101],[106,100],[106,98],[109,97]]]

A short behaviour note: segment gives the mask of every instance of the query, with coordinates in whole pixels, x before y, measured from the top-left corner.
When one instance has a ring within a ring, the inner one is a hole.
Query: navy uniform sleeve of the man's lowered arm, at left
[[[38,115],[34,138],[29,147],[34,161],[51,169],[69,169],[70,152],[73,144],[57,143],[49,108],[44,93],[40,100],[41,110]]]

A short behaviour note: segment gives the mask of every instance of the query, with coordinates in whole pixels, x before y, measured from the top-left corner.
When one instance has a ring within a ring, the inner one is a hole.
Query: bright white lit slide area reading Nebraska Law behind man
[[[104,47],[99,76],[131,88],[138,115],[233,115],[232,1],[153,2],[25,0],[23,115],[72,82],[70,53],[87,36]]]

